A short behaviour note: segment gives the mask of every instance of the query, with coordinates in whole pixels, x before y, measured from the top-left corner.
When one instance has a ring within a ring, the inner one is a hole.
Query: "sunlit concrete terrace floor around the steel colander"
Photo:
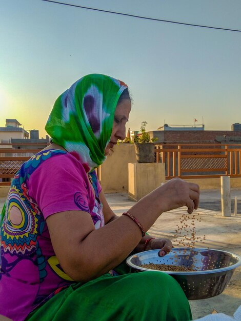
[[[241,256],[241,189],[231,191],[231,205],[233,213],[234,196],[238,198],[237,215],[223,217],[221,214],[221,201],[219,190],[203,190],[200,195],[200,204],[196,213],[201,222],[195,220],[197,236],[206,240],[196,242],[195,247],[209,247],[223,249]],[[107,201],[112,210],[121,215],[135,202],[128,199],[127,193],[106,194]],[[0,209],[4,204],[0,198]],[[175,236],[176,226],[180,217],[187,213],[186,208],[179,208],[163,213],[150,228],[149,234],[155,237],[170,238],[174,247],[178,247],[179,238]],[[205,243],[204,243],[205,242]],[[241,305],[241,267],[237,268],[222,294],[203,300],[190,300],[193,319],[210,314],[213,310],[227,315],[233,315]]]

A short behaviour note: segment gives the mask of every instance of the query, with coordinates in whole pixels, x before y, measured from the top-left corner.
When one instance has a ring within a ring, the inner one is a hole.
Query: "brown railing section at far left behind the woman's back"
[[[43,143],[13,143],[13,144],[0,144],[1,146],[34,146],[34,149],[16,149],[16,148],[0,148],[0,186],[10,186],[11,178],[14,177],[16,172],[21,168],[22,164],[26,162],[32,155],[36,154],[43,148]],[[47,145],[46,145],[47,146]],[[39,147],[39,148],[38,148]]]

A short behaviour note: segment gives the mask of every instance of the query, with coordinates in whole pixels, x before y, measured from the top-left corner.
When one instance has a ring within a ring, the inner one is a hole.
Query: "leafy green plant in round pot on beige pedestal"
[[[147,122],[142,122],[140,132],[134,137],[135,154],[138,163],[155,162],[155,144],[157,138],[150,138],[146,131]]]

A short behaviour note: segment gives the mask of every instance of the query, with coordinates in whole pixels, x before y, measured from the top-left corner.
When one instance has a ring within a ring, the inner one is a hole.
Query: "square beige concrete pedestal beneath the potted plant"
[[[128,198],[139,200],[166,182],[165,164],[129,163]]]

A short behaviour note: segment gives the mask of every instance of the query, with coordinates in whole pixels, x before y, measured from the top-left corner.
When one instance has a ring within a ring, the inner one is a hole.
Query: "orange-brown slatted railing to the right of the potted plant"
[[[241,177],[241,144],[156,144],[155,155],[167,179]]]

